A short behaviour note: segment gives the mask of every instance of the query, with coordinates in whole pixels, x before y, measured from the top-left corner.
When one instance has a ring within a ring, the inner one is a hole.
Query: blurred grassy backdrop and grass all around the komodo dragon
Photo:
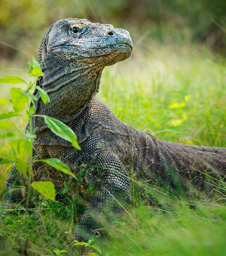
[[[29,81],[27,62],[37,59],[44,32],[58,19],[110,23],[127,29],[134,42],[129,59],[103,71],[98,97],[113,113],[159,139],[226,145],[226,1],[0,0],[0,10],[0,77]],[[1,84],[0,98],[10,102],[15,86]],[[10,104],[0,106],[5,109]],[[14,154],[8,142],[23,136],[26,122],[23,116],[0,122],[1,156]],[[0,186],[10,168],[0,166]],[[164,211],[134,200],[130,215],[100,243],[104,255],[224,255],[225,197],[194,202],[196,209],[179,201]],[[25,233],[28,255],[56,255],[53,248],[76,255],[67,247],[76,216],[70,204],[62,208],[49,202],[26,225],[23,216],[7,219],[0,255],[23,255]]]

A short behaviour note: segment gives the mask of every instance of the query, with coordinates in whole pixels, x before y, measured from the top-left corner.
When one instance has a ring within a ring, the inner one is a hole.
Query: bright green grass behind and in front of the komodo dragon
[[[131,58],[104,69],[99,99],[123,122],[159,139],[225,146],[225,59],[204,45],[161,47],[150,41],[145,50],[139,48],[135,45]],[[1,76],[24,73],[26,78],[24,67],[9,65],[1,64]],[[9,100],[10,87],[0,86],[1,98]],[[0,136],[11,137],[1,139],[1,154],[12,151],[8,142],[22,137],[26,120],[14,117],[3,124]],[[10,165],[0,168],[4,185]],[[93,242],[102,255],[225,255],[225,198],[193,201],[191,207],[186,200],[165,197],[160,196],[163,207],[157,209],[135,196],[128,214],[106,227],[109,237]],[[0,223],[0,255],[23,255],[23,247],[28,255],[55,255],[53,248],[69,252],[61,255],[79,255],[67,245],[79,209],[71,201],[66,208],[43,201],[30,215],[8,216]]]

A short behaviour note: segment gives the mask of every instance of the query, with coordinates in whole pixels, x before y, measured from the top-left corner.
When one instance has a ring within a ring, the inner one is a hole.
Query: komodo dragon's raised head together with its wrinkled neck
[[[37,83],[50,97],[40,109],[66,116],[80,108],[99,91],[103,68],[127,59],[132,47],[129,32],[109,24],[74,18],[53,23],[39,47],[44,76]]]

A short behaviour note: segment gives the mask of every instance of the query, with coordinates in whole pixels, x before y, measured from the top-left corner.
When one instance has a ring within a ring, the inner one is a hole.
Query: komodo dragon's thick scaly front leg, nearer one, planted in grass
[[[100,156],[92,166],[87,171],[90,180],[95,178],[94,196],[73,232],[75,239],[83,241],[88,240],[101,227],[100,219],[111,221],[112,215],[122,214],[123,204],[131,202],[131,182],[126,169],[116,156]],[[91,177],[92,175],[95,177]]]

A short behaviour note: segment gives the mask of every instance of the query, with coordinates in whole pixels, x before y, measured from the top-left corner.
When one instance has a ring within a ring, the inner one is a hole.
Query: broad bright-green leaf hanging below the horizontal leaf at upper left
[[[23,110],[27,104],[27,97],[23,95],[23,90],[20,88],[11,88],[10,96],[15,112]]]

